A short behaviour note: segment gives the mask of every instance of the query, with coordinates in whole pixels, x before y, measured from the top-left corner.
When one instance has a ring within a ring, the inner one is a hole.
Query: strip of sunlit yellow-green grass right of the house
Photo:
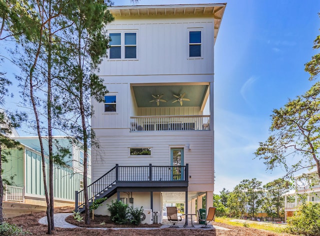
[[[225,223],[234,226],[242,226],[246,225],[247,227],[264,229],[272,232],[281,233],[284,232],[285,225],[284,224],[276,224],[276,223],[267,223],[267,222],[259,222],[245,219],[234,219],[234,218],[226,218],[226,217],[215,217],[214,221]]]

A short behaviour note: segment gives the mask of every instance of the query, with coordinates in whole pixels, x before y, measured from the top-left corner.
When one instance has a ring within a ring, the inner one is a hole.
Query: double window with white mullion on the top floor
[[[109,33],[110,59],[136,58],[136,32]]]

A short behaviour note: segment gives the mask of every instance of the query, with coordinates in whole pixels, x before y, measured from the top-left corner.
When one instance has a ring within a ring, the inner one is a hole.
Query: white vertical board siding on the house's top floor
[[[99,75],[213,74],[213,19],[116,19],[108,32],[136,32],[136,59],[104,58]],[[202,56],[189,58],[189,30],[201,30]],[[107,61],[107,62],[106,62]],[[151,81],[150,81],[151,82]]]

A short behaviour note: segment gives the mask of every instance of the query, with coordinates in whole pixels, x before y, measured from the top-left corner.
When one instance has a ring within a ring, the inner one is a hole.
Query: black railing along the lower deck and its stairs
[[[107,188],[117,182],[170,182],[188,181],[188,164],[178,166],[119,166],[112,169],[88,185],[88,198],[92,201]],[[84,191],[75,191],[75,210],[84,205]]]

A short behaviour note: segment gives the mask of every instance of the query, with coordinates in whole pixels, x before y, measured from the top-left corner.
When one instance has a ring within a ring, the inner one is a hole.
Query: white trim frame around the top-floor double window
[[[108,35],[110,33],[121,33],[121,58],[109,58],[107,57],[107,60],[138,60],[139,58],[139,51],[138,51],[138,45],[139,45],[139,40],[138,40],[138,30],[137,29],[123,29],[123,30],[110,30],[108,31]],[[135,33],[135,44],[128,44],[125,45],[124,43],[124,33]],[[135,58],[125,58],[125,46],[134,46],[135,45]],[[118,46],[118,45],[114,45]],[[110,55],[110,48],[108,48],[108,55]]]

